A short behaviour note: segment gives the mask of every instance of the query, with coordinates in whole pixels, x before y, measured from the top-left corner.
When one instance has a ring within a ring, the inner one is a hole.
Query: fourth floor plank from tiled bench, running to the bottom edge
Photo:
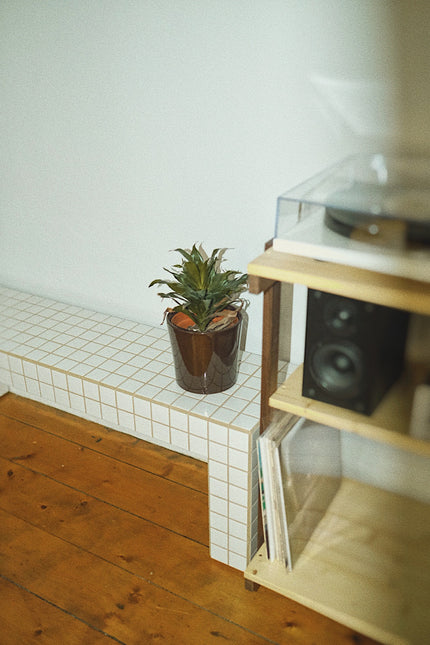
[[[4,577],[120,642],[267,644],[266,639],[4,511],[0,525]]]

